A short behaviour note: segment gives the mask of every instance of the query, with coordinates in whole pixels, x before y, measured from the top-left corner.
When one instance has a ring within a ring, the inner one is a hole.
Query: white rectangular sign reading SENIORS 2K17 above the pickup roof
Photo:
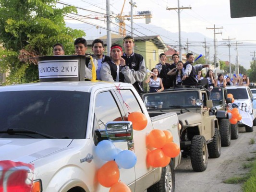
[[[43,60],[38,62],[39,78],[78,77],[78,60]]]

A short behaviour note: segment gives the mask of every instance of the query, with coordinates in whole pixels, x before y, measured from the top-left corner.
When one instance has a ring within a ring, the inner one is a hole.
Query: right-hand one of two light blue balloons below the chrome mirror
[[[123,150],[116,156],[116,164],[120,168],[133,168],[137,162],[137,157],[134,152],[130,150]]]

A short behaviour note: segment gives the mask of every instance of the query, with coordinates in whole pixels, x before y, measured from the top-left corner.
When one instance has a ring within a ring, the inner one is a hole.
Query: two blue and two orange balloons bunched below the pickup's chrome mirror
[[[104,187],[110,187],[110,192],[131,192],[130,188],[119,181],[119,168],[133,168],[137,157],[130,150],[121,150],[109,140],[103,140],[96,147],[96,155],[105,161],[97,173],[98,182]]]

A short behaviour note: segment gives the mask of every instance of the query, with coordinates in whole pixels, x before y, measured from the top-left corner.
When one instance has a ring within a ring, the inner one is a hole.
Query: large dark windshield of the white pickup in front
[[[77,91],[0,92],[0,138],[83,139],[89,96]]]

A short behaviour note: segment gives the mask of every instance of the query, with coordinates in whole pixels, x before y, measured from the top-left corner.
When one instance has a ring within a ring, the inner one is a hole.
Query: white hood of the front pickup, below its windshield
[[[31,163],[66,148],[72,139],[0,139],[0,160]]]

